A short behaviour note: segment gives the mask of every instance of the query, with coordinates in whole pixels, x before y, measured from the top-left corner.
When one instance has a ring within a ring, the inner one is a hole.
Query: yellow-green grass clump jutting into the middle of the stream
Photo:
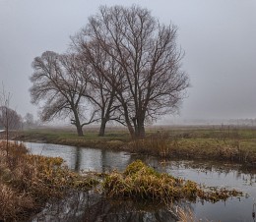
[[[195,201],[197,198],[215,202],[238,194],[234,191],[203,189],[195,182],[158,173],[141,160],[131,163],[123,173],[114,171],[106,176],[103,189],[110,197],[150,199],[163,203],[177,199]]]

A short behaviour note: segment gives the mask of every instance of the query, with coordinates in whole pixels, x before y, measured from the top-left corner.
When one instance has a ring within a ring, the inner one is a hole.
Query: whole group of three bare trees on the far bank
[[[69,117],[79,136],[94,122],[104,136],[116,121],[143,138],[147,123],[177,110],[189,85],[176,31],[147,9],[100,7],[67,53],[34,58],[30,91],[41,120]]]

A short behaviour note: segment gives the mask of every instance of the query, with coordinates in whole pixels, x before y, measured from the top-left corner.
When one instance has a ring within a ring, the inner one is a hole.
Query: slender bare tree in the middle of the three
[[[120,72],[118,63],[100,49],[97,41],[85,42],[77,34],[73,37],[75,49],[90,63],[92,77],[90,78],[91,91],[85,94],[99,109],[100,127],[98,136],[104,136],[106,123],[119,120],[118,109],[120,104],[116,98],[117,74]]]

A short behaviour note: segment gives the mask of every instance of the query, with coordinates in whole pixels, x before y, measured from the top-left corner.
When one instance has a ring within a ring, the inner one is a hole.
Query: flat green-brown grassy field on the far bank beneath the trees
[[[223,159],[256,164],[256,128],[235,126],[150,127],[146,139],[131,139],[124,128],[109,128],[105,137],[86,129],[78,137],[72,129],[22,132],[19,139],[46,143],[114,148],[161,157]]]

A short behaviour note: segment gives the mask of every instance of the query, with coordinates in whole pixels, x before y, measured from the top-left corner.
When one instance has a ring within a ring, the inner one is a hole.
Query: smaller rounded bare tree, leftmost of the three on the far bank
[[[83,64],[81,64],[83,63]],[[83,127],[96,121],[96,110],[88,122],[83,115],[87,101],[83,96],[88,89],[89,66],[76,54],[59,55],[46,51],[34,58],[31,81],[32,103],[43,101],[41,119],[48,121],[54,117],[71,118],[78,136],[82,137]]]

